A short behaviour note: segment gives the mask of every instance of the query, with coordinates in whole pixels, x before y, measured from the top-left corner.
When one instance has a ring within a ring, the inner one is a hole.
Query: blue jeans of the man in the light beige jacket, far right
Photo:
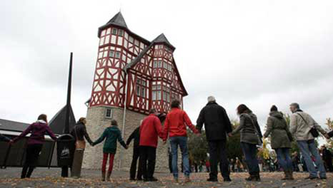
[[[311,155],[314,156],[316,160],[316,166],[319,170],[320,177],[326,177],[326,171],[324,163],[322,162],[322,157],[320,157],[316,145],[314,145],[314,140],[297,140],[297,145],[299,150],[301,150],[304,157],[305,164],[307,164],[307,169],[309,170],[311,177],[318,177],[317,169],[311,159]]]

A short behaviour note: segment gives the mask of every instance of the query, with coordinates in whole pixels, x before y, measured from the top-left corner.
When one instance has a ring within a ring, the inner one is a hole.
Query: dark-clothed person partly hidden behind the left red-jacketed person
[[[142,121],[141,121],[142,122]],[[141,125],[140,122],[140,125]],[[130,180],[135,180],[135,173],[136,173],[136,163],[140,156],[140,127],[137,127],[131,135],[129,135],[129,138],[126,141],[126,145],[129,145],[131,143],[131,140],[134,139],[134,145],[133,145],[133,159],[131,160],[131,169],[129,170]],[[142,173],[141,173],[141,166],[139,162],[138,167],[138,173],[136,174],[136,179],[141,181],[142,180]]]

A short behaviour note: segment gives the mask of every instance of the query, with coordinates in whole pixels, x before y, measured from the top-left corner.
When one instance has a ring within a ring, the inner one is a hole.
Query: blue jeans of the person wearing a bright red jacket
[[[182,152],[182,161],[185,177],[189,177],[189,151],[187,150],[187,137],[170,137],[172,152],[172,173],[178,178],[178,145]]]

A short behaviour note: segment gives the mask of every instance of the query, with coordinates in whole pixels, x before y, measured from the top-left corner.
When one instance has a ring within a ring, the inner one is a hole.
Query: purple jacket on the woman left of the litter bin
[[[21,135],[14,138],[13,141],[16,142],[17,140],[20,140],[22,137],[25,137],[26,135],[31,133],[31,135],[28,139],[28,145],[43,144],[44,140],[45,140],[44,135],[46,132],[48,135],[50,135],[50,137],[53,140],[56,140],[56,136],[51,131],[49,125],[47,125],[43,121],[37,121],[37,122],[34,122],[33,124],[29,125],[29,127],[26,128],[26,130],[24,130],[24,132],[22,132]]]

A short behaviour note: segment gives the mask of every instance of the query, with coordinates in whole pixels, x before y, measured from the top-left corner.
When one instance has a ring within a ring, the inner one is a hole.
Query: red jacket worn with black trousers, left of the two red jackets
[[[157,147],[159,137],[163,137],[159,117],[154,114],[144,118],[140,126],[140,146]]]

